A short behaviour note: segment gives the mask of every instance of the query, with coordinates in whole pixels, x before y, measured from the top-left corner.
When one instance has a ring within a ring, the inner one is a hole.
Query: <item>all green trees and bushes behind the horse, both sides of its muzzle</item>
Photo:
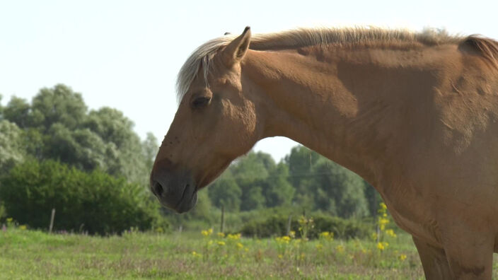
[[[284,235],[303,214],[315,217],[311,235],[363,236],[375,223],[376,190],[303,146],[278,163],[251,151],[199,192],[195,209],[174,214],[148,188],[158,139],[141,140],[119,110],[88,110],[81,93],[62,84],[2,104],[0,96],[0,223],[12,217],[47,228],[56,209],[60,231],[197,231],[218,227],[221,208],[226,231],[259,237]]]

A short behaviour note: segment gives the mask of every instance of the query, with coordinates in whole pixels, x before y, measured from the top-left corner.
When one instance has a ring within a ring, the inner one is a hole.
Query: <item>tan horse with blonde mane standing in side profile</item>
[[[427,30],[227,35],[178,77],[151,189],[175,211],[260,139],[349,168],[413,236],[427,279],[491,279],[498,251],[498,43]]]

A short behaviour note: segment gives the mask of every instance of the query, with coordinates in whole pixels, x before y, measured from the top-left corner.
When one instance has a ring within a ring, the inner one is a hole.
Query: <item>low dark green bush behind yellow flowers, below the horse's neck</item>
[[[373,231],[373,223],[359,221],[355,219],[343,219],[339,217],[326,216],[324,214],[311,214],[308,218],[313,218],[314,227],[308,231],[308,238],[318,238],[324,231],[334,233],[336,238],[365,238]],[[241,233],[245,236],[255,236],[258,238],[268,238],[271,236],[286,235],[287,222],[289,216],[282,214],[272,214],[265,218],[255,218],[245,223],[241,228]],[[296,232],[300,237],[299,216],[291,218],[291,231]]]

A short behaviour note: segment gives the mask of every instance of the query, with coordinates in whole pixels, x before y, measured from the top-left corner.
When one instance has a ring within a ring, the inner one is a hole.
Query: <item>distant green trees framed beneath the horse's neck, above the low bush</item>
[[[216,207],[228,211],[291,206],[342,218],[375,215],[375,190],[361,177],[304,146],[275,163],[262,152],[238,159],[208,187]]]

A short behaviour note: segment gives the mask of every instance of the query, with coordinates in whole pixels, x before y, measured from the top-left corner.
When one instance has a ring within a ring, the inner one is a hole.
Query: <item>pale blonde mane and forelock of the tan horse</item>
[[[209,65],[212,58],[222,47],[228,45],[237,35],[225,35],[210,40],[190,55],[183,64],[177,79],[177,97],[182,100],[190,84],[203,69],[204,81],[207,81]],[[277,50],[294,49],[315,45],[351,44],[360,42],[420,42],[424,45],[460,43],[461,36],[451,36],[445,30],[424,29],[415,33],[410,30],[388,30],[383,28],[300,28],[279,33],[255,34],[251,37],[249,49]]]

